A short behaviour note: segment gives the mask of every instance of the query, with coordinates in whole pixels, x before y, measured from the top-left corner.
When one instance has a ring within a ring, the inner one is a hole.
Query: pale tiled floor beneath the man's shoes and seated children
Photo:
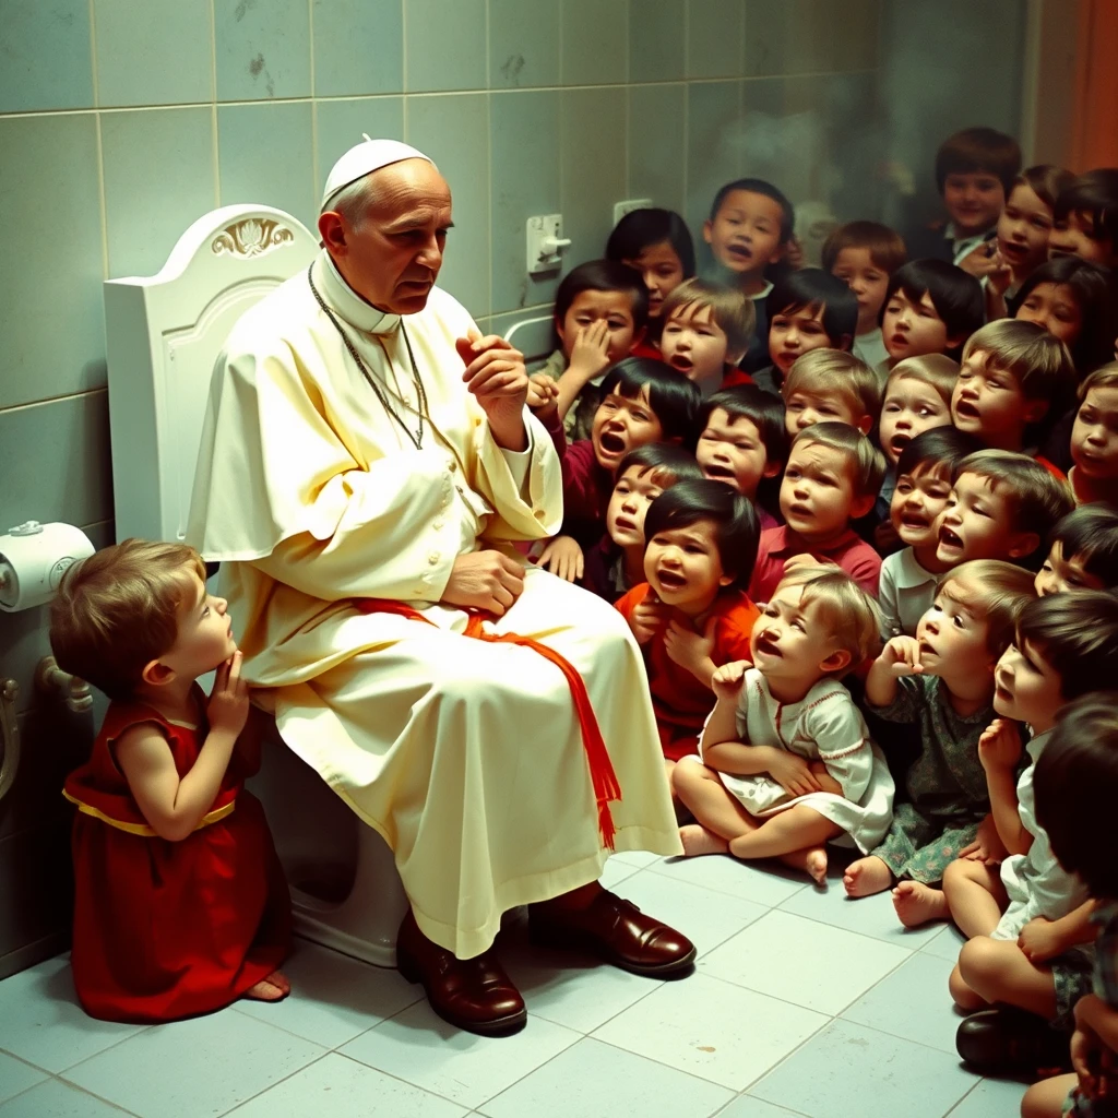
[[[1023,1087],[955,1055],[958,937],[906,932],[888,893],[847,901],[728,858],[623,854],[606,881],[699,947],[656,983],[531,950],[502,957],[528,1027],[482,1040],[420,989],[300,941],[280,1005],[171,1025],[92,1021],[65,958],[0,983],[0,1118],[1015,1118]]]

